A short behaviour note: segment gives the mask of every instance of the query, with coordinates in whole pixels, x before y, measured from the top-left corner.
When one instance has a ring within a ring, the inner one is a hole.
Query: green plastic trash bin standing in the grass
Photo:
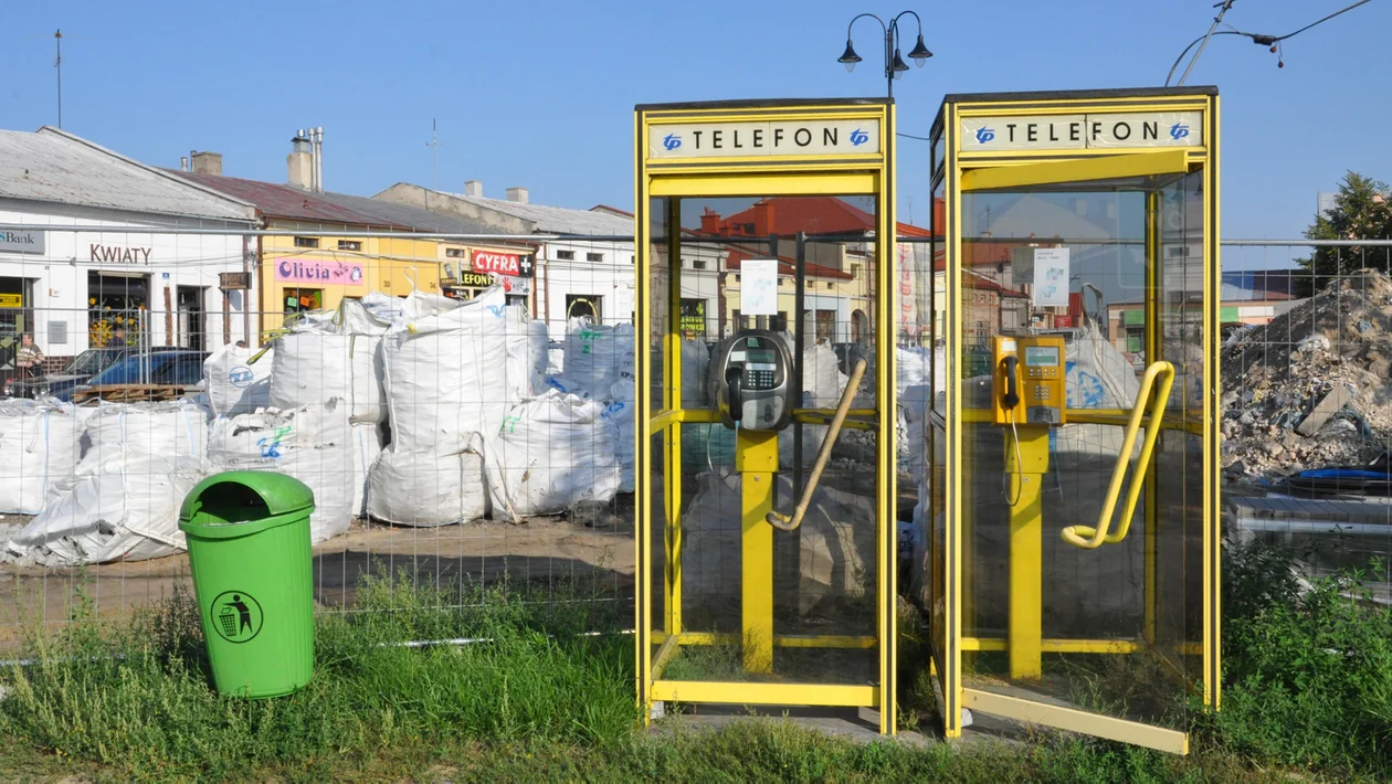
[[[207,659],[224,695],[280,696],[315,673],[315,493],[269,471],[209,476],[184,499]]]

